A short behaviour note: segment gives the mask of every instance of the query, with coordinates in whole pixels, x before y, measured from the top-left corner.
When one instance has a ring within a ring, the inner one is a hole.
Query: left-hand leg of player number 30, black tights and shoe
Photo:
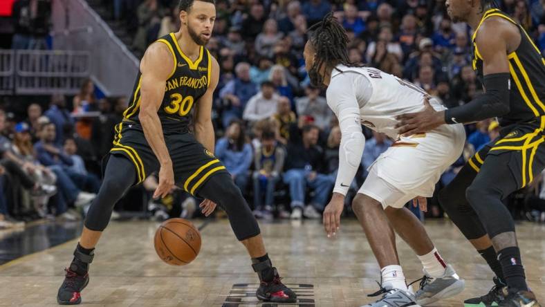
[[[133,162],[124,156],[111,155],[102,186],[89,207],[80,242],[74,251],[66,278],[57,293],[57,302],[64,305],[80,304],[80,292],[89,283],[89,264],[93,261],[95,245],[110,221],[113,206],[134,184],[136,170]]]

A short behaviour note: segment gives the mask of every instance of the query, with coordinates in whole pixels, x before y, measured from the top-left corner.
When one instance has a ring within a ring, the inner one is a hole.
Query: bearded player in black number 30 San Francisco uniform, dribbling
[[[216,203],[227,212],[232,230],[248,250],[261,281],[258,299],[296,301],[295,293],[281,283],[268,258],[250,207],[212,154],[212,93],[218,84],[219,65],[204,45],[212,35],[215,3],[181,0],[179,6],[181,29],[151,44],[140,62],[131,104],[116,126],[102,187],[89,208],[74,259],[59,288],[59,304],[80,304],[80,292],[89,283],[94,248],[113,205],[129,187],[142,183],[154,171],[159,171],[154,197],[165,196],[176,184],[206,199],[201,204],[206,215]],[[194,133],[188,129],[190,116],[194,116]]]

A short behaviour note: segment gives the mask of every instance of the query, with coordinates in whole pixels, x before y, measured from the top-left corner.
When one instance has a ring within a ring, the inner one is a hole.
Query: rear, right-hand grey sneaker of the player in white
[[[447,265],[441,277],[433,278],[426,270],[423,271],[425,275],[420,279],[420,288],[415,295],[418,304],[422,306],[432,304],[434,301],[453,297],[463,291],[465,281],[458,277],[450,264]]]

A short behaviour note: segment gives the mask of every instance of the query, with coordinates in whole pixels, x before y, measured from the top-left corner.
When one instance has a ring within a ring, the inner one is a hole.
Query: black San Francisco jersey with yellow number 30
[[[157,113],[163,127],[163,132],[187,131],[192,122],[192,110],[197,100],[206,93],[210,85],[212,60],[210,52],[201,46],[198,58],[193,62],[178,45],[174,33],[169,33],[157,40],[170,50],[174,59],[174,67],[167,82],[165,95]],[[142,73],[138,72],[129,107],[123,113],[123,120],[140,124],[140,86]]]

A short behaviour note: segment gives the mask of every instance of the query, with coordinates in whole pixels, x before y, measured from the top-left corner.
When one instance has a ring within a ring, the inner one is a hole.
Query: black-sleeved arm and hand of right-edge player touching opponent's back
[[[517,35],[518,29],[509,21],[494,17],[487,19],[479,28],[476,39],[477,50],[483,59],[483,87],[486,92],[463,106],[446,111],[435,111],[425,103],[426,107],[421,112],[398,116],[399,133],[410,136],[445,123],[466,124],[506,115],[510,111],[508,44],[519,41]]]

